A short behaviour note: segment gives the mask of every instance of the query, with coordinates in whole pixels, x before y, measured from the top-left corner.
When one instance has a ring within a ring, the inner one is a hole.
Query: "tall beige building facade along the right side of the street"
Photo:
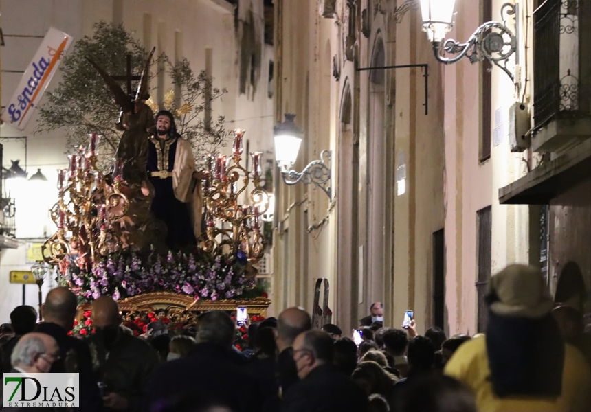
[[[456,1],[448,38],[465,41],[483,22],[498,21],[502,3]],[[535,82],[542,82],[535,53],[548,41],[537,38],[533,47],[538,3],[518,1],[517,14],[503,17],[517,32],[513,81],[487,61],[438,62],[421,32],[419,1],[275,2],[275,119],[295,113],[304,129],[295,169],[332,150],[333,192],[329,199],[313,185],[279,184],[276,305],[312,310],[316,279],[326,278],[332,320],[343,330],[354,328],[373,301],[383,301],[386,325],[399,327],[410,309],[419,330],[438,325],[449,334],[473,334],[486,325],[492,273],[513,262],[544,266],[542,208],[504,194],[558,154],[542,155],[550,150],[536,143],[552,127],[547,119],[535,124]],[[574,3],[568,12],[586,19],[587,6]],[[582,56],[586,29],[579,27],[581,82],[589,72]],[[558,53],[566,53],[560,45]],[[589,142],[585,102],[577,106],[579,128],[562,132],[575,133],[572,144]],[[577,170],[588,179],[581,156]],[[579,290],[590,288],[585,182],[546,201],[547,273],[555,291],[567,255],[580,268],[585,288]],[[588,292],[579,295],[578,305],[588,311]]]

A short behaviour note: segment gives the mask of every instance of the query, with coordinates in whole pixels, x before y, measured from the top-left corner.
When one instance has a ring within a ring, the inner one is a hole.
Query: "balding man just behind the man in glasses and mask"
[[[276,330],[276,343],[279,384],[282,396],[295,382],[298,382],[298,369],[293,361],[293,341],[298,335],[312,328],[310,315],[301,308],[287,308],[279,314]]]

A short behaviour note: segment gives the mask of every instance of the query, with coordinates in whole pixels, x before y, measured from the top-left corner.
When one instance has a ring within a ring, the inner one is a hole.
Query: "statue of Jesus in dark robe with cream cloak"
[[[156,115],[147,172],[155,189],[151,210],[168,229],[166,245],[180,249],[197,244],[203,203],[199,179],[203,176],[195,170],[191,144],[177,133],[175,117],[169,111]]]

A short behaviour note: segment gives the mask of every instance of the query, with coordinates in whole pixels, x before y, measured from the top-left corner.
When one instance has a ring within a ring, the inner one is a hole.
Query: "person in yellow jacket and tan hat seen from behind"
[[[445,374],[472,389],[480,411],[590,411],[590,369],[561,338],[539,269],[507,266],[489,288],[486,335],[463,343]]]

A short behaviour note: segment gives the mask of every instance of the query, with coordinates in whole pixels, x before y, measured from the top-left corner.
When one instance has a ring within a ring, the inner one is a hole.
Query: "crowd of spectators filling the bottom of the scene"
[[[238,350],[227,312],[204,312],[175,336],[150,323],[136,337],[111,297],[92,302],[95,333],[70,336],[76,296],[56,288],[42,323],[30,306],[12,311],[0,354],[4,372],[78,372],[80,411],[590,411],[591,343],[579,312],[557,306],[542,274],[522,265],[491,278],[487,304],[485,334],[448,338],[434,327],[418,334],[414,319],[383,327],[376,302],[357,342],[287,308],[248,325],[249,347]]]

